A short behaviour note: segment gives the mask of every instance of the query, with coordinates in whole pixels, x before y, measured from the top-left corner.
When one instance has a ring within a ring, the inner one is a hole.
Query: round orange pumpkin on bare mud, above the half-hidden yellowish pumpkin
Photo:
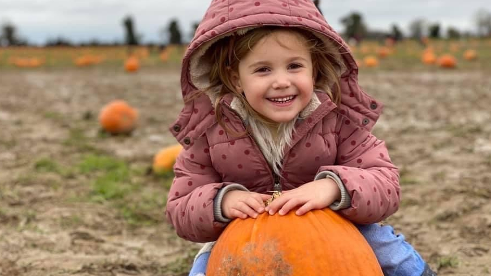
[[[128,134],[136,127],[138,112],[122,100],[113,101],[101,109],[99,123],[111,134]]]

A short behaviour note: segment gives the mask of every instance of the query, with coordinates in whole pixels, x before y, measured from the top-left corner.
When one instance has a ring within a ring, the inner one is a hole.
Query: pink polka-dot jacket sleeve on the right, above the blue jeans
[[[339,212],[359,224],[379,222],[395,213],[399,170],[390,160],[385,142],[342,115],[337,119],[336,134],[336,163],[321,166],[317,173],[332,171],[343,182],[351,207]]]

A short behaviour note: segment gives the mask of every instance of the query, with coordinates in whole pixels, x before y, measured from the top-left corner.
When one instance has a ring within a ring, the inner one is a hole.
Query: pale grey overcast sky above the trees
[[[252,1],[252,0],[251,0]],[[160,41],[159,30],[177,18],[189,40],[192,22],[200,21],[210,0],[0,0],[0,24],[13,23],[21,37],[43,44],[62,36],[72,42],[122,41],[121,21],[132,15],[143,41]],[[473,16],[491,8],[490,0],[321,0],[326,20],[339,32],[340,18],[360,12],[369,29],[389,30],[397,23],[403,31],[411,21],[425,18],[448,26],[474,31]]]

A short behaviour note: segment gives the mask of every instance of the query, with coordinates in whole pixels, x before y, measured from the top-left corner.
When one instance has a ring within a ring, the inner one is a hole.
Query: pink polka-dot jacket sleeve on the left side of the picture
[[[222,182],[213,168],[206,136],[181,151],[174,173],[166,206],[168,221],[184,239],[217,240],[226,223],[215,220],[213,200],[220,189],[232,183]]]

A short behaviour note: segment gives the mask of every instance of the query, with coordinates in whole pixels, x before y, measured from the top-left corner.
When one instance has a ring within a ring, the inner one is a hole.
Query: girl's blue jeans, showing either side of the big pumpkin
[[[425,261],[404,240],[404,235],[394,234],[394,229],[378,224],[356,225],[375,252],[385,276],[421,276]],[[210,252],[201,254],[193,263],[189,276],[206,274]],[[201,274],[200,274],[201,273]]]

